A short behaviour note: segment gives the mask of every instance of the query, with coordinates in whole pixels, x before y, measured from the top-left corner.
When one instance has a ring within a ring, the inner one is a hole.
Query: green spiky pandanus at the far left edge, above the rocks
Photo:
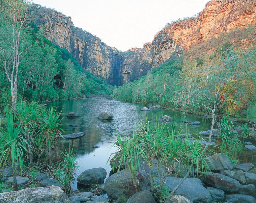
[[[14,123],[12,111],[5,110],[6,123],[0,130],[0,165],[5,166],[9,162],[13,169],[13,188],[17,190],[17,167],[20,165],[22,172],[24,162],[25,144],[27,143],[21,133],[19,122]]]

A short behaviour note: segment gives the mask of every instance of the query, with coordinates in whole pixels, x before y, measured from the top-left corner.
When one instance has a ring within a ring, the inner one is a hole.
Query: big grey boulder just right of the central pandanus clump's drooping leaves
[[[229,160],[229,158],[226,155],[221,153],[213,154],[212,156],[207,157],[206,160],[211,171],[222,170],[222,169],[232,170],[234,168],[234,165]]]

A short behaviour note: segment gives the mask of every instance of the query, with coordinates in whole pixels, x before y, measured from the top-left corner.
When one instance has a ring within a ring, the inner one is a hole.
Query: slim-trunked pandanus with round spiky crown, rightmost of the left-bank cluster
[[[49,170],[52,170],[52,143],[61,135],[61,112],[51,107],[45,110],[41,118],[41,134],[46,138],[46,151],[49,157]]]

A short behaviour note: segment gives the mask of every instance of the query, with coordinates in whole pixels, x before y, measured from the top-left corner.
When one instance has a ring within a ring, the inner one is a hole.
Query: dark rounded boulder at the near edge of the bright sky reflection
[[[78,176],[77,182],[84,186],[102,184],[106,176],[107,171],[104,168],[92,168],[82,172]]]

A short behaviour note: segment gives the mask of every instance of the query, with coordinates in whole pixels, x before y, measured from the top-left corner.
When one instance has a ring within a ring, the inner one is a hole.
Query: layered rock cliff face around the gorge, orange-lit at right
[[[140,78],[171,56],[180,56],[202,40],[254,24],[256,1],[210,1],[198,17],[176,21],[159,31],[152,43],[123,54],[100,38],[74,27],[71,17],[45,12],[42,8],[31,12],[37,15],[35,24],[44,29],[46,38],[68,49],[91,73],[112,85],[121,85]]]

